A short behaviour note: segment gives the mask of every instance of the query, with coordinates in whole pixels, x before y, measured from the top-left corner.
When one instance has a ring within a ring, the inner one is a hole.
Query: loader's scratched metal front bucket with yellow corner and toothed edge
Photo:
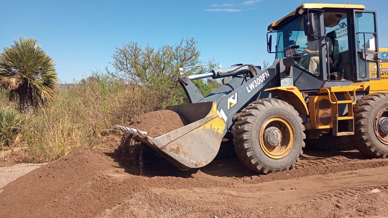
[[[217,102],[182,104],[166,109],[177,112],[189,124],[156,138],[147,136],[146,131],[116,126],[132,133],[135,141],[148,145],[181,170],[210,163],[220,149],[225,129],[225,122],[217,114]]]

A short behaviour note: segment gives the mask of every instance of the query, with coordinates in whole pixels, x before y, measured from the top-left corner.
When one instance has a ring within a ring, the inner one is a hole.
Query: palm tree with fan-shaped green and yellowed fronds
[[[20,36],[14,42],[0,54],[0,90],[7,90],[9,100],[19,99],[20,111],[28,114],[37,102],[55,99],[55,62],[35,38]]]

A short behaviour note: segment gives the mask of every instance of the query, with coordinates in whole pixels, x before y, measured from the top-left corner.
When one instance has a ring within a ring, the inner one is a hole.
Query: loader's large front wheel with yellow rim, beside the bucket
[[[237,156],[258,173],[289,170],[303,154],[305,127],[299,113],[279,99],[260,99],[249,104],[234,124]],[[274,137],[269,137],[270,135]],[[280,135],[280,136],[279,136]]]

